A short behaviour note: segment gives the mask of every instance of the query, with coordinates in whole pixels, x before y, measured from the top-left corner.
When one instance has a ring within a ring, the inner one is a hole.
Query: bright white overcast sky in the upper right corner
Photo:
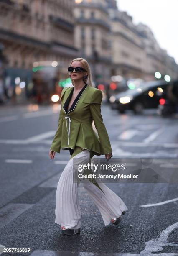
[[[178,0],[117,0],[133,23],[149,26],[162,49],[178,64]]]

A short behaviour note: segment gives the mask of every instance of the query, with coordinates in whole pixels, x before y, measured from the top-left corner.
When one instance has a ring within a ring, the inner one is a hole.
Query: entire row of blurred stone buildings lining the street
[[[0,45],[5,87],[14,92],[39,70],[42,82],[53,87],[55,79],[69,77],[71,59],[80,56],[89,61],[96,84],[109,83],[112,75],[153,80],[156,71],[178,78],[174,58],[148,26],[134,25],[118,10],[116,0],[1,0]]]

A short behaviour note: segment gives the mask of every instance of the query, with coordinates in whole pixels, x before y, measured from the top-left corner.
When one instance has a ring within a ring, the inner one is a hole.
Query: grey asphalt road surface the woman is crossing
[[[55,223],[56,187],[70,154],[48,156],[58,115],[58,106],[0,110],[0,247],[31,248],[25,255],[32,256],[178,255],[177,182],[107,184],[128,207],[118,226],[104,226],[80,185],[81,234],[61,233]],[[104,104],[102,116],[114,158],[178,159],[178,119],[150,110],[120,115]],[[166,170],[177,168],[171,161]]]

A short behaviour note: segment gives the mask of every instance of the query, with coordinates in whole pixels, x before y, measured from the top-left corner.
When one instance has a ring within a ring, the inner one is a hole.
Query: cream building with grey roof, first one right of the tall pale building
[[[109,9],[112,27],[113,75],[142,77],[145,50],[142,35],[133,26],[126,12]]]

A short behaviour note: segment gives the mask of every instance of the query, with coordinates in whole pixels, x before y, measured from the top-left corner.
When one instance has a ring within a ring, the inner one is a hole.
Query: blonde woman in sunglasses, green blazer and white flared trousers
[[[71,61],[68,67],[72,87],[65,87],[61,92],[61,111],[58,128],[54,136],[49,156],[54,159],[61,148],[69,150],[71,158],[64,168],[56,190],[56,220],[61,225],[63,234],[80,233],[81,212],[78,199],[79,182],[75,164],[86,164],[94,155],[105,155],[107,161],[112,157],[107,130],[101,115],[102,91],[92,87],[92,74],[88,62],[83,58]],[[92,128],[92,121],[97,133]],[[120,216],[125,214],[127,206],[105,184],[97,184],[88,179],[84,188],[98,207],[104,225],[110,222],[117,225]]]

